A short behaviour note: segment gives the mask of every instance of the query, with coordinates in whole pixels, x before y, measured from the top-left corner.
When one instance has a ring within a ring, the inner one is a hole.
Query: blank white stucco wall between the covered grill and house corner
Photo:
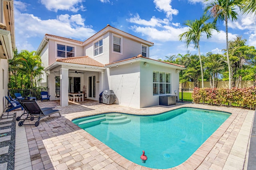
[[[126,64],[109,68],[108,83],[116,94],[116,104],[140,108],[140,65]]]

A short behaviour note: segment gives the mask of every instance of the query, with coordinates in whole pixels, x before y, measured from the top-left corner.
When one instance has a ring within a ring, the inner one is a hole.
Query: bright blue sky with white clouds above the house
[[[14,0],[16,47],[36,51],[46,33],[84,41],[110,24],[153,42],[150,58],[164,60],[187,50],[197,54],[178,35],[187,31],[186,20],[202,16],[204,6],[202,0]],[[222,53],[226,48],[224,22],[218,27],[220,32],[213,31],[211,39],[202,35],[202,54]],[[242,35],[246,45],[256,47],[256,16],[240,15],[229,21],[228,33],[229,40]]]

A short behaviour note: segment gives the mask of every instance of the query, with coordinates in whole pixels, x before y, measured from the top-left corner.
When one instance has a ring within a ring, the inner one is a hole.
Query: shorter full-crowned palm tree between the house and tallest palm
[[[216,29],[216,25],[214,23],[206,23],[207,20],[210,19],[210,16],[203,15],[199,20],[188,20],[184,25],[188,26],[188,31],[179,35],[180,41],[182,38],[185,38],[187,47],[192,42],[194,44],[194,48],[198,49],[199,61],[201,67],[201,78],[202,78],[202,88],[204,88],[204,73],[203,66],[200,54],[199,41],[202,36],[202,33],[206,33],[207,39],[212,36],[212,30]]]

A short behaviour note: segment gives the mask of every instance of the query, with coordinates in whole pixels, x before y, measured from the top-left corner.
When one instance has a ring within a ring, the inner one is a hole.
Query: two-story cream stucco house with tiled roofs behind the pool
[[[153,45],[110,25],[83,42],[46,34],[37,50],[46,67],[41,86],[48,86],[50,100],[61,106],[68,105],[69,92],[98,100],[107,89],[116,94],[116,104],[156,106],[160,95],[178,96],[185,68],[150,59]]]

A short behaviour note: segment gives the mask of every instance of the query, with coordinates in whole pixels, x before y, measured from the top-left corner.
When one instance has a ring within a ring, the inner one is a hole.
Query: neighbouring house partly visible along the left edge
[[[8,94],[8,60],[15,51],[13,0],[0,1],[0,115],[6,106],[4,96]]]

